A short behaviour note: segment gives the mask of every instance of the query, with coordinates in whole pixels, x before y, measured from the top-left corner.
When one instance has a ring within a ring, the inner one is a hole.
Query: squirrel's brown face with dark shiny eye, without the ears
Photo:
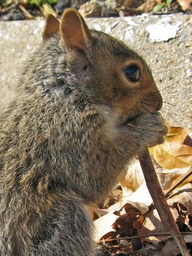
[[[92,100],[118,111],[122,124],[161,109],[162,98],[147,63],[112,36],[92,31],[92,38],[87,83]]]

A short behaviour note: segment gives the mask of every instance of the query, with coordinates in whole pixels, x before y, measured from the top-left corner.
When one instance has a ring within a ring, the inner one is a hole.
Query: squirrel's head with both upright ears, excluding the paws
[[[61,35],[68,83],[80,86],[96,104],[110,106],[122,124],[158,111],[162,98],[151,71],[138,54],[120,40],[90,30],[80,13],[67,9],[59,22],[48,15],[43,41]]]

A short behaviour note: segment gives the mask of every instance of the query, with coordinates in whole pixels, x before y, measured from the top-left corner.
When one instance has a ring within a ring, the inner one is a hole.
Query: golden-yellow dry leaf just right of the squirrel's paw
[[[192,147],[184,145],[190,130],[182,127],[168,127],[165,142],[149,148],[156,162],[165,169],[186,168],[192,165]]]

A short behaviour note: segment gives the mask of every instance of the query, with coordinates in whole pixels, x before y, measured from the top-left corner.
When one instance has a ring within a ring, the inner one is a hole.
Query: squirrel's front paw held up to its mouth
[[[148,147],[163,143],[163,136],[168,131],[161,114],[157,111],[138,116],[134,125],[141,139]]]

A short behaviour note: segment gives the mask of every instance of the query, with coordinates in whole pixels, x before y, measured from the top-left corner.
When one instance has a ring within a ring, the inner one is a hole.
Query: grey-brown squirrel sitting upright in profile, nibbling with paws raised
[[[0,116],[0,255],[102,255],[85,205],[100,204],[147,145],[163,143],[162,98],[135,51],[48,15]]]

